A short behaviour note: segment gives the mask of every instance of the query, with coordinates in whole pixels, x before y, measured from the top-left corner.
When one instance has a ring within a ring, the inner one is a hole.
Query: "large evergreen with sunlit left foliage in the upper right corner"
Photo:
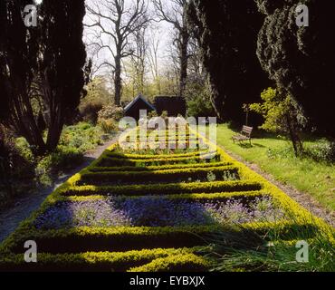
[[[256,0],[265,15],[257,54],[278,90],[298,102],[311,126],[335,137],[335,34],[332,0]],[[309,26],[296,24],[295,9],[309,8]]]

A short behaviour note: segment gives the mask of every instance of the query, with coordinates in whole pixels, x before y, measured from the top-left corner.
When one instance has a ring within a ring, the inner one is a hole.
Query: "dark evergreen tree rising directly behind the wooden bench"
[[[254,0],[193,0],[188,17],[202,48],[212,102],[223,120],[244,122],[244,103],[269,85],[256,56],[263,15]]]

